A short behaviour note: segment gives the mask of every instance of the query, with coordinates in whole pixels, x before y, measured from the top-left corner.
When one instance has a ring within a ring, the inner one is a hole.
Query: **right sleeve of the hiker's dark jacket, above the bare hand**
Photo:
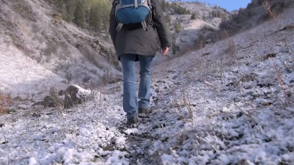
[[[170,34],[169,34],[169,31],[167,30],[166,19],[165,19],[165,16],[163,15],[159,0],[151,0],[151,3],[154,6],[153,10],[155,15],[153,17],[153,22],[159,36],[161,47],[162,48],[170,47],[171,45]]]

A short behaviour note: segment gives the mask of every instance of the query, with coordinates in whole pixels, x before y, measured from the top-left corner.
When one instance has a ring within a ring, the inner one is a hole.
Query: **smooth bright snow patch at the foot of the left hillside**
[[[37,64],[33,59],[23,55],[15,46],[0,41],[0,90],[13,96],[25,97],[48,91],[56,84],[62,86],[64,80],[52,71]]]

